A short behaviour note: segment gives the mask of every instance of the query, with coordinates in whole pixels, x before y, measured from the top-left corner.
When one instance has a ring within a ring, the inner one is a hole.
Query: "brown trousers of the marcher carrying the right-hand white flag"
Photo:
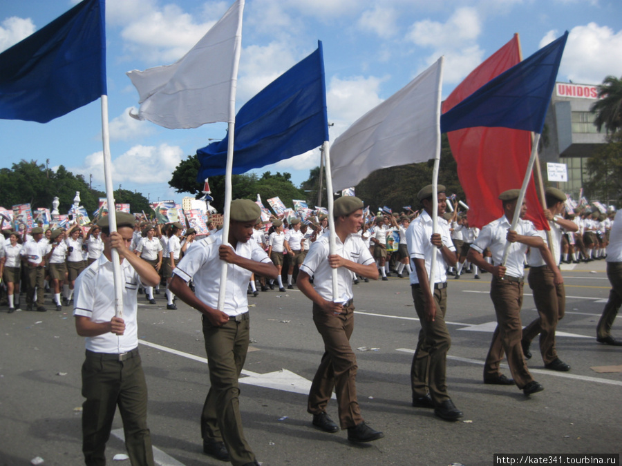
[[[424,293],[419,285],[411,285],[415,311],[419,316],[421,330],[411,365],[411,387],[413,398],[422,398],[430,391],[435,405],[449,400],[445,382],[447,351],[451,338],[445,324],[447,311],[447,289],[434,290],[436,316],[432,322],[426,320]]]

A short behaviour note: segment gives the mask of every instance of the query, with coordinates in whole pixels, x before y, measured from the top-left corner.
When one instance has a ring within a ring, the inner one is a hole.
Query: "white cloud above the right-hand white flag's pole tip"
[[[476,42],[482,25],[475,8],[463,7],[455,10],[446,23],[424,19],[411,26],[406,39],[417,46],[432,48],[425,59],[426,68],[441,56],[445,56],[443,82],[460,82],[482,62],[484,50]],[[424,70],[422,67],[418,72]]]

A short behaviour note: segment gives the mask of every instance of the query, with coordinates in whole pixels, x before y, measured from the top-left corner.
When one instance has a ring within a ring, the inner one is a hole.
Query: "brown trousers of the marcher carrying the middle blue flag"
[[[354,309],[352,300],[339,315],[329,314],[313,304],[313,322],[324,340],[324,354],[311,383],[307,411],[310,414],[326,411],[334,389],[341,429],[355,427],[363,421],[357,401],[357,358],[350,347]]]

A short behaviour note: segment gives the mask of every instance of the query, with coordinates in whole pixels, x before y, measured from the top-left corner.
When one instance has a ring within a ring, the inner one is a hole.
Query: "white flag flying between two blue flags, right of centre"
[[[379,168],[436,157],[441,81],[442,57],[335,139],[330,146],[334,191],[356,186]]]

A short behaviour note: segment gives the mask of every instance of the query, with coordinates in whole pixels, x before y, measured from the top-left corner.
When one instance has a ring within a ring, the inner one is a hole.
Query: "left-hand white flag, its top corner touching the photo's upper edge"
[[[126,73],[138,90],[138,119],[165,128],[198,128],[233,122],[230,105],[238,76],[244,0],[236,0],[218,23],[172,65]]]

